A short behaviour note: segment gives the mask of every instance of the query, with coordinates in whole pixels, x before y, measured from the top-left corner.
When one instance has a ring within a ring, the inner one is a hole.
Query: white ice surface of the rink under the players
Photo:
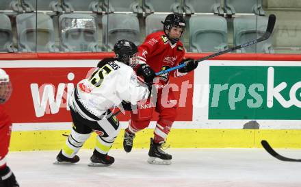
[[[300,149],[276,149],[301,158]],[[184,186],[301,186],[301,162],[276,160],[264,149],[167,149],[168,166],[146,162],[148,150],[125,153],[113,149],[109,167],[87,166],[92,150],[79,151],[81,160],[55,165],[58,151],[11,152],[8,164],[21,187],[184,187]]]

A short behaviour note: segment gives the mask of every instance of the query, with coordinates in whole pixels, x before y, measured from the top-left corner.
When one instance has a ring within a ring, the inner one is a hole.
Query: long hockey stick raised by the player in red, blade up
[[[201,62],[201,61],[204,61],[204,60],[208,60],[210,58],[214,58],[218,55],[222,55],[224,53],[228,53],[228,52],[231,52],[231,51],[235,51],[236,49],[241,49],[241,48],[244,48],[244,47],[248,47],[250,45],[254,45],[258,42],[262,42],[264,40],[267,40],[268,38],[270,38],[272,32],[273,32],[273,29],[274,29],[274,26],[275,26],[275,22],[276,22],[276,16],[274,14],[270,14],[269,16],[269,20],[267,22],[267,29],[265,31],[265,34],[263,34],[263,36],[261,36],[261,38],[258,38],[256,40],[252,40],[250,42],[246,42],[242,45],[237,45],[235,47],[232,47],[230,49],[226,49],[224,51],[220,51],[218,53],[213,53],[211,55],[208,55],[208,56],[205,56],[204,58],[200,58],[199,60],[196,60],[196,62]],[[174,71],[178,68],[183,68],[184,66],[186,66],[186,64],[180,64],[179,66],[174,66],[172,68],[168,68],[166,70],[163,70],[163,71],[159,71],[158,73],[156,73],[156,75],[161,75],[163,73],[168,73],[170,71]]]

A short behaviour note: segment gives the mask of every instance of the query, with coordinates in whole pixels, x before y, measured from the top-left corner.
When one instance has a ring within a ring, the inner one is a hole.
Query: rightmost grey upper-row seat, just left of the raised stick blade
[[[252,13],[265,16],[262,0],[224,0],[226,14]]]

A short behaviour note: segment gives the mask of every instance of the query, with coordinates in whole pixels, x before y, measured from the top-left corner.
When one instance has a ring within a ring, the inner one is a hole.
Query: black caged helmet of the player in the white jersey
[[[132,67],[137,64],[138,60],[133,58],[136,57],[138,48],[133,42],[129,40],[118,40],[114,45],[114,52],[118,61]]]

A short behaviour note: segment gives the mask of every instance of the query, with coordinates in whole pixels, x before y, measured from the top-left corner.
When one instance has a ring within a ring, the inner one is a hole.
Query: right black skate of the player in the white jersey
[[[115,162],[114,157],[107,154],[99,153],[94,149],[93,155],[90,158],[91,163],[88,166],[110,166]]]

